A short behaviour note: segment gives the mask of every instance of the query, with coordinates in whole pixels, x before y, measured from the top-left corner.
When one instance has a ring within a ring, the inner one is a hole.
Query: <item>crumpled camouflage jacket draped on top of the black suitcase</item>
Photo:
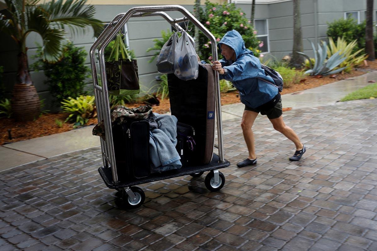
[[[121,123],[126,123],[128,120],[142,120],[146,119],[152,112],[152,107],[149,105],[141,105],[136,108],[128,108],[123,105],[117,105],[111,112],[111,126]],[[106,140],[104,121],[101,120],[94,126],[93,135],[100,136]]]

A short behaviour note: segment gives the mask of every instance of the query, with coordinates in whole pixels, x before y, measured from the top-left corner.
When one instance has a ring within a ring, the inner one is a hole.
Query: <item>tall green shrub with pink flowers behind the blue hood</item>
[[[196,11],[196,10],[195,10]],[[246,18],[244,11],[236,8],[234,3],[218,5],[217,3],[205,2],[205,11],[199,11],[200,22],[220,41],[222,36],[229,30],[237,30],[245,41],[245,47],[259,56],[257,50],[260,41],[254,34],[253,24]],[[212,50],[208,38],[199,33],[199,56],[202,60],[211,61]],[[218,50],[218,58],[221,59],[221,52]]]

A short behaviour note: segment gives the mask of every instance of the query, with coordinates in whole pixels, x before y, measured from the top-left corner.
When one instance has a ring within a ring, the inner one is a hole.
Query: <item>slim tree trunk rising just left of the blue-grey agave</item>
[[[297,52],[302,52],[302,48],[300,0],[293,0],[293,52],[291,65],[301,67],[303,58]]]

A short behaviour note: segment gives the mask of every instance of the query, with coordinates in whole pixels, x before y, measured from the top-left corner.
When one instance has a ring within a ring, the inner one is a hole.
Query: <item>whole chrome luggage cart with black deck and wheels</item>
[[[165,12],[178,11],[184,15],[182,18],[172,19]],[[129,9],[126,13],[116,15],[110,24],[104,29],[101,35],[97,38],[93,46],[90,48],[90,64],[92,67],[92,78],[94,95],[97,104],[98,121],[104,121],[106,140],[101,138],[101,150],[103,166],[98,168],[104,183],[110,189],[118,190],[116,196],[123,199],[124,205],[127,208],[136,208],[143,204],[145,195],[142,189],[135,185],[159,181],[169,178],[174,178],[183,175],[191,175],[199,177],[204,172],[210,171],[205,177],[205,186],[210,191],[219,191],[225,184],[224,175],[218,169],[228,167],[229,161],[224,159],[223,148],[223,135],[222,135],[222,120],[221,120],[221,101],[220,101],[220,86],[219,74],[216,71],[213,83],[208,85],[214,86],[215,89],[215,111],[217,123],[218,144],[213,143],[211,149],[211,160],[208,164],[200,166],[184,166],[181,169],[174,169],[162,173],[151,173],[144,178],[137,178],[134,180],[127,179],[123,181],[118,177],[117,166],[115,161],[114,143],[112,137],[112,126],[110,118],[110,104],[109,94],[107,90],[106,71],[104,48],[110,43],[113,37],[131,17],[144,17],[144,16],[161,16],[168,21],[173,27],[178,27],[178,23],[182,21],[191,21],[192,24],[197,26],[201,32],[208,37],[211,41],[213,60],[217,60],[217,46],[215,37],[192,15],[189,11],[179,5],[159,5],[159,6],[144,6]],[[97,54],[98,52],[98,54]],[[99,65],[96,66],[96,58],[98,56]],[[97,67],[99,68],[100,83],[98,84]],[[212,140],[214,140],[213,134]],[[214,141],[212,141],[214,142]],[[218,148],[218,155],[213,153],[213,147]],[[148,167],[149,168],[149,167]]]

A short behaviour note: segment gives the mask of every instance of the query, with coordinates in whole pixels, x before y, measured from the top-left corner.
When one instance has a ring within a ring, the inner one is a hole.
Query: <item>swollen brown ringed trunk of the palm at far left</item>
[[[17,121],[36,119],[40,114],[40,100],[29,74],[28,55],[20,52],[16,84],[12,91],[12,113]]]

